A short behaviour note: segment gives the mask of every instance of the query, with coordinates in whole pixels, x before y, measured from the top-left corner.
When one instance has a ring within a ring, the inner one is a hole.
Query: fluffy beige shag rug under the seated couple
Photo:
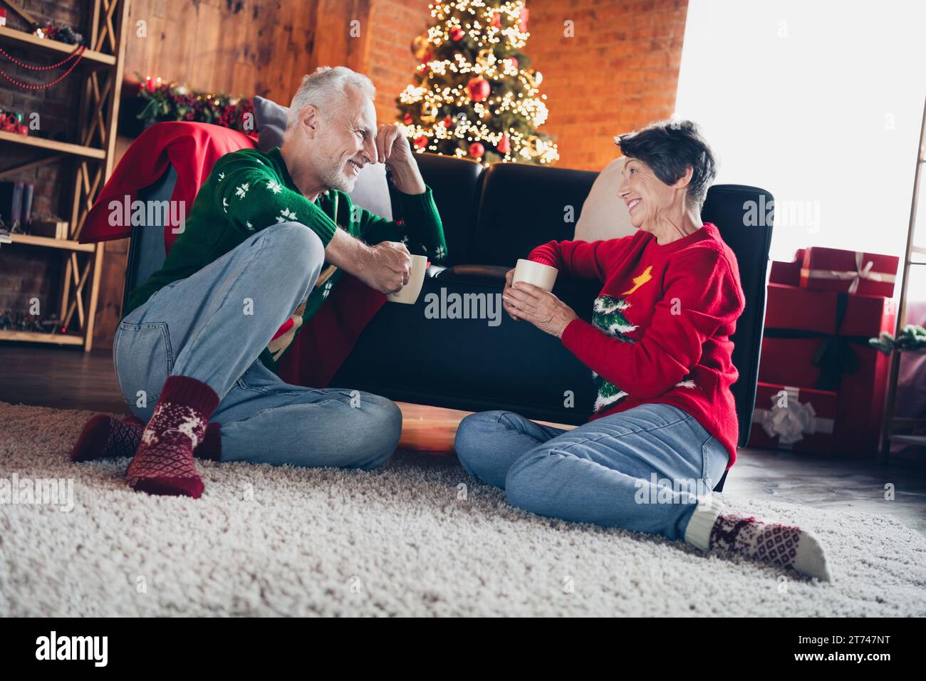
[[[820,584],[516,511],[452,458],[200,463],[203,498],[150,497],[125,486],[128,460],[69,463],[90,415],[0,402],[0,481],[70,480],[74,504],[0,504],[0,614],[926,614],[926,539],[886,513],[725,498],[814,528],[835,574]]]

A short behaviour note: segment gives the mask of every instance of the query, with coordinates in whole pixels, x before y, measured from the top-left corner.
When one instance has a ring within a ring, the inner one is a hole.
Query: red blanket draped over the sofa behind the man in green
[[[134,201],[138,191],[155,183],[169,166],[177,170],[177,183],[170,199],[192,206],[199,187],[219,158],[255,146],[252,137],[218,125],[189,122],[153,125],[132,143],[106,182],[87,215],[81,243],[130,236],[131,225],[109,224],[109,202],[114,199],[121,202],[126,195]],[[165,253],[177,238],[173,232],[165,226]],[[296,385],[328,385],[385,300],[386,296],[344,274],[325,304],[296,334],[278,365],[280,377]]]

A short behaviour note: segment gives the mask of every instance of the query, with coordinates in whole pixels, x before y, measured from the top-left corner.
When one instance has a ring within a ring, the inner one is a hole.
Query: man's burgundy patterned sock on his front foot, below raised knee
[[[133,489],[150,494],[199,498],[203,480],[196,473],[193,450],[206,435],[206,422],[219,396],[201,381],[169,376],[151,421],[126,472]]]

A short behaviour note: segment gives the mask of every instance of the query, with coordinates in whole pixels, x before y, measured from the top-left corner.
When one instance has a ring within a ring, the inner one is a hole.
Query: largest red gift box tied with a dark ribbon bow
[[[770,284],[758,380],[834,391],[833,450],[873,456],[890,358],[868,339],[882,331],[893,334],[895,316],[890,298]]]

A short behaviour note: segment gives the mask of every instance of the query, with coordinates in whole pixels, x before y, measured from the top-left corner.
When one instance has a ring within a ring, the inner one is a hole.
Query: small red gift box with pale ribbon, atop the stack
[[[900,259],[877,253],[813,246],[804,252],[801,286],[860,296],[894,296]]]

